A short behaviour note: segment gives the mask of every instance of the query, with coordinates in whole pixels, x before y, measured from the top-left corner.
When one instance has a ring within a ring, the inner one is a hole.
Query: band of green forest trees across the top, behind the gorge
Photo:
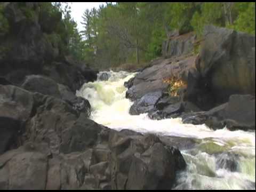
[[[53,20],[61,17],[58,25],[50,26],[54,27],[50,41],[63,53],[99,69],[143,66],[162,55],[162,42],[175,31],[179,35],[194,31],[200,38],[205,25],[215,25],[255,34],[254,2],[106,3],[84,11],[83,31],[71,18],[68,3],[41,3],[41,9],[39,19],[46,14]],[[2,10],[0,5],[0,34],[8,30]],[[33,10],[23,11],[33,18]]]

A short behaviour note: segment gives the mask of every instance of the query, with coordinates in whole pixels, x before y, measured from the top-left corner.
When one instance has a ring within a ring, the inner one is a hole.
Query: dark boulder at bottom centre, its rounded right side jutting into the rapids
[[[179,150],[155,135],[131,138],[115,132],[109,145],[112,189],[171,189],[175,172],[186,167]]]

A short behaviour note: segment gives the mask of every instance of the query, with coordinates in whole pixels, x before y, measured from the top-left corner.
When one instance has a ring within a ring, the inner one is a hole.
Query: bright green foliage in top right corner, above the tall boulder
[[[190,23],[199,36],[202,35],[205,25],[255,34],[255,2],[202,3]]]

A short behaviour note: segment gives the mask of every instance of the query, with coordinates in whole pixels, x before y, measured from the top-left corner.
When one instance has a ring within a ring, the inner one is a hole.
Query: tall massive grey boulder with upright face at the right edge
[[[255,35],[206,26],[197,69],[214,98],[255,94]]]

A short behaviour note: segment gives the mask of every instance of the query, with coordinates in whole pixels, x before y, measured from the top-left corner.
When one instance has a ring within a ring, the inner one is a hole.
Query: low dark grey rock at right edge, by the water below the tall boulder
[[[183,123],[203,124],[212,129],[255,130],[255,97],[231,95],[229,101],[206,112],[182,116]]]

